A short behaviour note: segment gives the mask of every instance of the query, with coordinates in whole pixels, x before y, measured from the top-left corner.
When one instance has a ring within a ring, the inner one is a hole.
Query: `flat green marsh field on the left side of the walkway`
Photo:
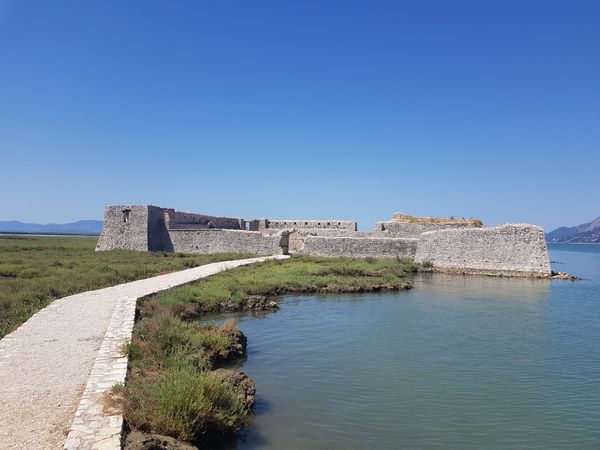
[[[56,298],[247,256],[94,252],[96,241],[0,235],[0,338]]]

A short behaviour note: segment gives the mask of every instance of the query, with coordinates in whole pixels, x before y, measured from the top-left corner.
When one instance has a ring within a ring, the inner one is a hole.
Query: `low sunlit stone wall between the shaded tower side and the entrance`
[[[288,236],[267,236],[243,230],[168,230],[170,247],[167,251],[184,253],[255,253],[258,255],[286,254]]]

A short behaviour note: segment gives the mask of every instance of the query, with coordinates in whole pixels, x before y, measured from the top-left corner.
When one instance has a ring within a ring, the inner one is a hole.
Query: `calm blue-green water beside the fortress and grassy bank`
[[[242,317],[257,417],[238,449],[599,449],[600,246],[585,281],[419,276]]]

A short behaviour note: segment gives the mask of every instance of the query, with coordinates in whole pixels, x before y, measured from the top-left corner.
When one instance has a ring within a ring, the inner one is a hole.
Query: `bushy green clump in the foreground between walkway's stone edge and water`
[[[126,348],[128,426],[194,442],[239,431],[250,411],[211,369],[228,359],[240,335],[232,321],[185,322],[167,310],[138,321]]]

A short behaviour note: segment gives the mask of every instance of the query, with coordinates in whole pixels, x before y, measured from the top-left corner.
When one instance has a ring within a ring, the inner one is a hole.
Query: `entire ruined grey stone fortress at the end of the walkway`
[[[478,220],[417,218],[394,213],[373,232],[341,220],[245,220],[151,205],[107,206],[97,251],[298,254],[411,258],[434,271],[551,276],[544,230]]]

